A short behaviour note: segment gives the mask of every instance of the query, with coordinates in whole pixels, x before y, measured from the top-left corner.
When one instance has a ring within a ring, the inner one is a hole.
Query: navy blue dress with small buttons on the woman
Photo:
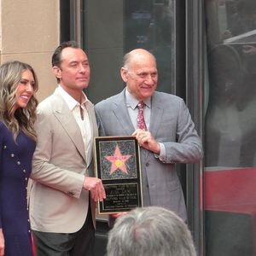
[[[23,132],[17,137],[0,122],[0,228],[4,256],[32,256],[26,191],[36,143]]]

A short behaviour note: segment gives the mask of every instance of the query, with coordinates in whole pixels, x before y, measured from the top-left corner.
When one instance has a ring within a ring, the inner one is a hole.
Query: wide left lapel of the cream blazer
[[[55,91],[54,106],[55,106],[54,114],[56,119],[59,120],[60,125],[67,132],[67,136],[70,137],[70,139],[73,141],[75,147],[79,151],[79,154],[81,154],[84,161],[86,162],[84,143],[83,143],[83,138],[79,129],[79,125],[74,119],[73,113],[67,107],[67,104],[64,102],[62,97],[57,93],[57,91]]]

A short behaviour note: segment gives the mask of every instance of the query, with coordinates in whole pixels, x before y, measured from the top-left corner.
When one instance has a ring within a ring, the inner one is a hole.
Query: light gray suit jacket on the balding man
[[[202,158],[201,139],[189,109],[177,96],[155,91],[151,99],[149,131],[166,148],[166,159],[141,148],[143,193],[149,205],[165,207],[186,220],[186,207],[175,163],[195,163]],[[100,136],[131,135],[135,130],[125,106],[125,90],[96,104]]]

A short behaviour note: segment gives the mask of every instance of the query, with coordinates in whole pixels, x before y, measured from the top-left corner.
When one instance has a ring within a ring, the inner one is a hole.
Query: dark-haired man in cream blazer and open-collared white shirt
[[[93,255],[95,202],[105,198],[94,176],[92,148],[97,136],[87,55],[75,42],[60,44],[52,56],[58,81],[38,106],[38,144],[32,160],[30,218],[37,256]]]

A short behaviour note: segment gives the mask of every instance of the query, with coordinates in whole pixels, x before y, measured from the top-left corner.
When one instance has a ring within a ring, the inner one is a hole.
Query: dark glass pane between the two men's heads
[[[84,41],[90,60],[89,98],[96,103],[122,90],[119,69],[124,55],[124,3],[86,2]]]

